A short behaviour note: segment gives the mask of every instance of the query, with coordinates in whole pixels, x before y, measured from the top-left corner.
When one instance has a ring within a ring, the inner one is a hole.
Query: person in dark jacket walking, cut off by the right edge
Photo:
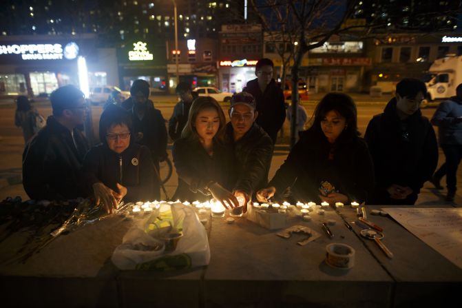
[[[446,174],[446,201],[452,202],[456,195],[457,168],[462,158],[462,83],[456,88],[456,96],[439,104],[431,122],[439,127],[439,144],[446,156],[445,164],[434,173],[432,183],[438,188],[439,181]]]

